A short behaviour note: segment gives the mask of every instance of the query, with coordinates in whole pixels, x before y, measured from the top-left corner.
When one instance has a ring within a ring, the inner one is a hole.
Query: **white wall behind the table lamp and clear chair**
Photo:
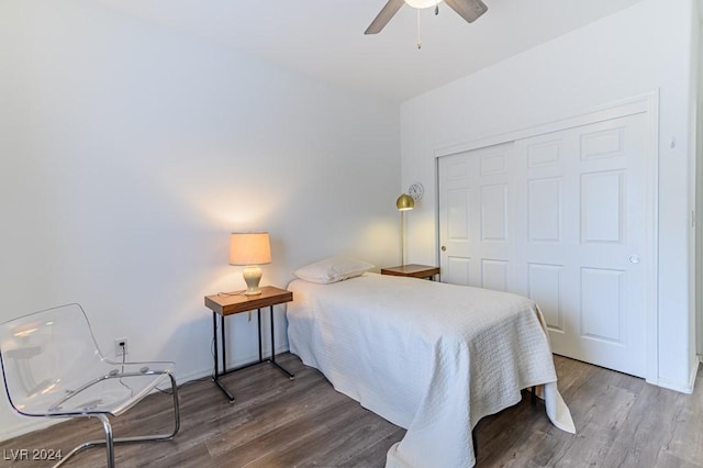
[[[395,265],[399,166],[397,103],[79,0],[0,0],[0,321],[78,301],[107,354],[124,336],[209,375],[203,296],[244,287],[228,233],[270,232],[279,287],[332,254]],[[232,364],[255,324],[228,319]],[[0,399],[0,438],[35,427]]]

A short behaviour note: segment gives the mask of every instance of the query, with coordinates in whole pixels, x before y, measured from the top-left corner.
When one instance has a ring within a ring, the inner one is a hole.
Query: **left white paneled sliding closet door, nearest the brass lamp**
[[[513,143],[439,159],[442,280],[514,290]],[[512,182],[512,183],[511,183]]]

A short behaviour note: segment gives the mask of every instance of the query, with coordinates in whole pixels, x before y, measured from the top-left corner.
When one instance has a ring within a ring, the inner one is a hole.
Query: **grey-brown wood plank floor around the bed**
[[[181,430],[174,441],[119,445],[122,467],[382,467],[404,431],[337,393],[298,357],[226,376],[230,404],[205,379],[181,386]],[[483,419],[477,427],[478,467],[703,467],[703,370],[695,392],[678,393],[644,380],[555,356],[559,389],[577,434],[549,423],[539,402],[523,401]],[[170,395],[156,393],[114,423],[116,436],[164,432]],[[48,467],[16,460],[29,449],[60,449],[101,437],[97,421],[69,421],[0,443],[2,467]],[[88,449],[67,466],[105,466],[104,449]]]

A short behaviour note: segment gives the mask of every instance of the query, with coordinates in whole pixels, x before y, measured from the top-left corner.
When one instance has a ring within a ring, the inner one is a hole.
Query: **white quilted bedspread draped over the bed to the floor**
[[[365,274],[288,289],[291,353],[342,393],[408,430],[387,467],[470,467],[471,430],[545,385],[547,414],[573,433],[536,304],[521,296]]]

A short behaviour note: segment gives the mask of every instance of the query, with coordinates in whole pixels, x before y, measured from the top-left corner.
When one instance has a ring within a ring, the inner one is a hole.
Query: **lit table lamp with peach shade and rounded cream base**
[[[261,293],[259,265],[271,263],[268,233],[232,233],[230,236],[230,265],[245,266],[242,276],[246,282],[244,296]]]

